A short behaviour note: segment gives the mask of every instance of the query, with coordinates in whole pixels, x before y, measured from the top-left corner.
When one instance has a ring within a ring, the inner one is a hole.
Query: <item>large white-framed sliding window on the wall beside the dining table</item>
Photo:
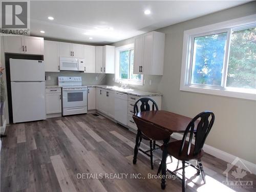
[[[255,17],[184,31],[180,90],[256,100]]]

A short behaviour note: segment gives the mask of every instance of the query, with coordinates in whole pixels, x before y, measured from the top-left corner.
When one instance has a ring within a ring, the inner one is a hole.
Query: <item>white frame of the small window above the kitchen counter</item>
[[[129,79],[120,79],[120,52],[134,49],[134,44],[128,44],[125,46],[120,46],[116,48],[116,62],[115,62],[115,82],[125,83],[125,84],[134,84],[138,86],[143,86],[143,75],[141,74],[141,80],[130,79],[130,66],[129,66]],[[131,57],[131,56],[130,56]]]

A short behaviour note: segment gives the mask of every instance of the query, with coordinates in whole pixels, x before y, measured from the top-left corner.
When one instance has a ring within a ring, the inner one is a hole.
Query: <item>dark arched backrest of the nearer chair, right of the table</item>
[[[198,155],[204,145],[205,139],[208,136],[212,125],[214,124],[215,115],[210,111],[205,111],[194,117],[187,125],[186,131],[183,135],[179,155],[183,154],[184,150],[187,150],[186,154],[193,153],[193,156]],[[195,129],[195,125],[197,125]],[[187,135],[189,133],[188,147],[184,147]],[[190,152],[191,142],[193,135],[195,134],[195,148]]]

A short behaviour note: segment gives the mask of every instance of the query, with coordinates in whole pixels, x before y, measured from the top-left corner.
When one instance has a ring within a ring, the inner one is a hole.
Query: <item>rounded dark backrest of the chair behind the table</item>
[[[151,98],[140,98],[138,101],[135,102],[133,112],[134,114],[136,114],[141,111],[158,111],[157,103]]]

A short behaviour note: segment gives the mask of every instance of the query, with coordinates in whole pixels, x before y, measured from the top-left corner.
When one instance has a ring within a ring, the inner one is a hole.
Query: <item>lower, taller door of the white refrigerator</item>
[[[13,122],[46,119],[45,82],[11,82]]]

